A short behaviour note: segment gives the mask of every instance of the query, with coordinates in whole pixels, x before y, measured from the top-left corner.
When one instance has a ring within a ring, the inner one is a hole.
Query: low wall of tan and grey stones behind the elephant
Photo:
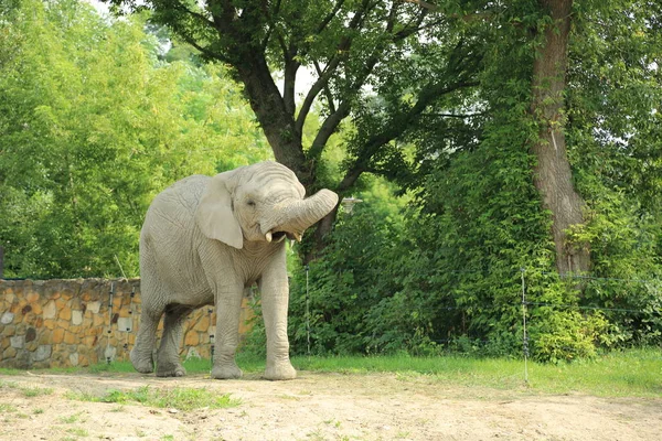
[[[253,316],[248,303],[244,298],[242,335]],[[0,367],[128,361],[139,318],[139,279],[0,280]],[[189,315],[183,357],[210,357],[215,320],[213,306]]]

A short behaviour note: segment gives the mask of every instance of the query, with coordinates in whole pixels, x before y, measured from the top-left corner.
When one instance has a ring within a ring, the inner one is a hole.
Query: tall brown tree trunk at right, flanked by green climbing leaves
[[[573,0],[538,0],[552,15],[533,65],[531,110],[540,122],[540,136],[532,147],[537,159],[535,186],[543,205],[552,212],[552,235],[559,273],[586,272],[590,267],[588,245],[568,245],[566,232],[584,224],[584,200],[575,191],[564,133],[568,40]]]

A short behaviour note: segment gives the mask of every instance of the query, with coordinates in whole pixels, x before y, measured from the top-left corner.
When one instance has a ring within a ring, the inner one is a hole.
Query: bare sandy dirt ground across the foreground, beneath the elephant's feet
[[[205,388],[229,409],[177,411],[74,400],[71,392]],[[25,388],[51,388],[26,397]],[[662,399],[536,395],[445,385],[425,376],[301,372],[257,376],[0,375],[0,440],[660,440]]]

